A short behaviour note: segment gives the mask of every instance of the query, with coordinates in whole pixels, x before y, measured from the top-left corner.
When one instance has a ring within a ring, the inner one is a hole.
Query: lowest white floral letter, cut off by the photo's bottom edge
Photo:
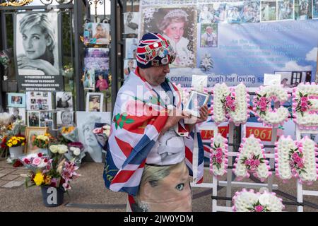
[[[275,193],[264,191],[263,194],[255,194],[253,189],[237,191],[232,203],[234,212],[281,212],[285,208],[283,200]]]

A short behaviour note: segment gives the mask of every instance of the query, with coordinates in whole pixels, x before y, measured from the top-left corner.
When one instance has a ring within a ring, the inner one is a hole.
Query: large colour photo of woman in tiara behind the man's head
[[[176,52],[172,67],[196,66],[196,7],[145,7],[142,12],[141,36],[158,32],[170,41]]]

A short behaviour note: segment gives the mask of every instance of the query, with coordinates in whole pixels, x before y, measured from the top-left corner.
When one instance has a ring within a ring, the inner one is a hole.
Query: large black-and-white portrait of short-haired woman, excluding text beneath
[[[18,13],[15,23],[19,76],[59,75],[58,14]]]

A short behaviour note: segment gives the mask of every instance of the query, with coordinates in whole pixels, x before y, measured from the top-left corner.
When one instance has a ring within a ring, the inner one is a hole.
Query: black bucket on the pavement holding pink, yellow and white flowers
[[[43,203],[46,207],[57,207],[63,204],[64,189],[54,186],[41,186]]]

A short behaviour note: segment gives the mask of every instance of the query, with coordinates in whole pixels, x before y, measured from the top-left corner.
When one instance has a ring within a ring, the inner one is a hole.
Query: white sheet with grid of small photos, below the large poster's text
[[[50,111],[52,110],[51,92],[27,92],[26,106],[28,111]]]

